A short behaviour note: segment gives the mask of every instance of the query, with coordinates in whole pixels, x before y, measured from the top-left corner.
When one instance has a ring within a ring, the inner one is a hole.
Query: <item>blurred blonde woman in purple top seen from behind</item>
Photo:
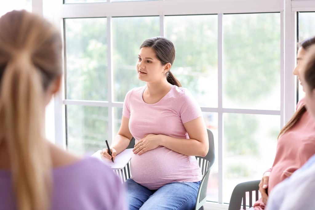
[[[124,209],[112,170],[44,139],[44,111],[59,91],[62,41],[46,20],[0,18],[0,209]]]

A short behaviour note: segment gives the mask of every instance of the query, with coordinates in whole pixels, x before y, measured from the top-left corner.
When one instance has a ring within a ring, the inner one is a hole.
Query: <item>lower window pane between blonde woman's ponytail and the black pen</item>
[[[92,155],[106,147],[108,108],[67,105],[68,150]],[[109,143],[112,142],[108,139]]]

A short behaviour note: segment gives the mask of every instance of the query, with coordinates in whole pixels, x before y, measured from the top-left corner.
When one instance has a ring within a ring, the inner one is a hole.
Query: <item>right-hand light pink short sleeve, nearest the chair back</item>
[[[186,88],[181,89],[177,105],[183,124],[202,116],[200,106]]]

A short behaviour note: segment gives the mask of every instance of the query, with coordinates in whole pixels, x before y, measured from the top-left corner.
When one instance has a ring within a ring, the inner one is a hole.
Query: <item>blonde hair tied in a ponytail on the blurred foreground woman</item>
[[[50,208],[44,93],[62,73],[61,49],[59,32],[43,18],[25,10],[0,18],[0,143],[9,151],[19,210]]]

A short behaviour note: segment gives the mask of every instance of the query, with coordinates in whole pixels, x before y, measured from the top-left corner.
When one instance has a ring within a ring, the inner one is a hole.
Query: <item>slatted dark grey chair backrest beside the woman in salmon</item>
[[[253,206],[253,192],[255,193],[255,201],[259,199],[258,191],[260,180],[243,182],[235,186],[229,204],[229,210],[239,210],[243,206],[246,209],[246,192],[249,192],[249,207]],[[243,202],[242,202],[243,200]],[[254,203],[255,203],[254,201]]]

